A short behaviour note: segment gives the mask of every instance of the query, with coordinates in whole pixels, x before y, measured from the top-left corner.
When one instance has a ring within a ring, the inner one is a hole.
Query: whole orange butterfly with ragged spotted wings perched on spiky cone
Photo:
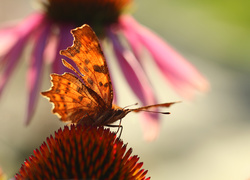
[[[170,102],[135,109],[124,109],[112,104],[113,88],[109,70],[95,32],[88,25],[83,25],[71,33],[74,36],[73,45],[60,51],[60,54],[75,62],[78,70],[62,60],[64,66],[73,70],[78,77],[71,73],[51,74],[51,89],[41,93],[54,104],[53,113],[59,115],[62,121],[106,126],[132,111],[174,104]]]

